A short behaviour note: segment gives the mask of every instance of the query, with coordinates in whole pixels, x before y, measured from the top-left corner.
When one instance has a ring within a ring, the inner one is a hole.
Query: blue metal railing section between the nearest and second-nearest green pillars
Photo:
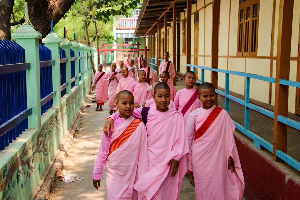
[[[51,50],[44,44],[39,44],[40,50],[40,84],[41,84],[41,115],[53,105],[55,93],[52,89],[52,61]]]

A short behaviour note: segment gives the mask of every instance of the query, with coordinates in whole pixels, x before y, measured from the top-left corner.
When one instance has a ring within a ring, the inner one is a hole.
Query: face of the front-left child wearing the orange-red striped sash
[[[134,110],[134,97],[132,94],[120,94],[116,103],[120,112],[120,118],[128,119]]]

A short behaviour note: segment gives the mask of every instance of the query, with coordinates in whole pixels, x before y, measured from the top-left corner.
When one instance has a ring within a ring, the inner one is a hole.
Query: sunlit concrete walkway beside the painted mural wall
[[[93,99],[95,99],[95,94],[87,96],[87,100],[91,101]],[[101,132],[106,117],[109,116],[109,108],[106,103],[103,106],[103,111],[95,111],[96,103],[87,104],[91,105],[91,107],[83,107],[75,123],[79,124],[77,129],[82,130],[79,132],[82,135],[76,134],[76,141],[68,150],[69,157],[66,158],[63,166],[63,169],[66,169],[66,174],[78,174],[79,177],[84,177],[84,179],[68,184],[64,181],[56,181],[55,188],[49,199],[107,199],[105,194],[105,174],[102,176],[99,190],[96,190],[92,184],[92,174],[101,143]],[[187,176],[184,177],[182,182],[180,199],[195,199],[194,187],[189,184]]]

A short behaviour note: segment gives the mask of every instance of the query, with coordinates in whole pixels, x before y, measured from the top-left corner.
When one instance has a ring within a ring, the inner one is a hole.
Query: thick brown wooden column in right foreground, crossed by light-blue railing
[[[286,153],[287,126],[277,121],[278,115],[287,117],[289,86],[280,85],[279,79],[289,80],[289,65],[291,57],[292,19],[294,0],[280,0],[277,38],[274,130],[273,130],[273,160],[276,161],[276,151]]]

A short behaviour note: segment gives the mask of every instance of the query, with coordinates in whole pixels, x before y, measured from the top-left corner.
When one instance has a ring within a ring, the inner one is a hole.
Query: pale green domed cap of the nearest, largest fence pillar
[[[32,25],[20,25],[11,35],[13,38],[42,38],[42,34],[36,31]]]

